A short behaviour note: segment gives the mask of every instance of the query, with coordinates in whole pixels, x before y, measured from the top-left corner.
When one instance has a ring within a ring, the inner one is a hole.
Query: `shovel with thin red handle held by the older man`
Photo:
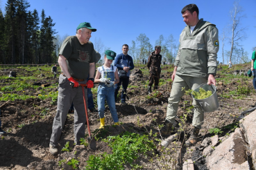
[[[71,86],[74,86],[73,83],[70,83]],[[91,131],[89,129],[89,117],[88,117],[88,112],[87,112],[87,106],[86,106],[86,100],[85,100],[85,88],[87,88],[87,84],[79,84],[79,86],[82,86],[83,89],[83,103],[85,104],[85,115],[86,115],[86,121],[87,121],[87,129],[88,129],[88,134],[89,137],[87,138],[87,141],[89,143],[89,149],[96,150],[96,140],[95,138],[92,137]]]

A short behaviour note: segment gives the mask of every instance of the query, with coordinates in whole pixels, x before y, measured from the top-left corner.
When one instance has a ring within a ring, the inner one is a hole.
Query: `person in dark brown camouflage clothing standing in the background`
[[[148,57],[148,70],[149,70],[149,83],[148,94],[152,93],[152,85],[155,82],[154,90],[158,88],[160,73],[161,73],[161,61],[162,55],[160,55],[161,46],[155,46],[155,51]]]

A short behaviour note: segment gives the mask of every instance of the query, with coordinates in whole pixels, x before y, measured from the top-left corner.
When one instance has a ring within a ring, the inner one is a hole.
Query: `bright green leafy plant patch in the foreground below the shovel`
[[[155,149],[148,135],[139,135],[126,131],[123,135],[108,136],[103,140],[112,148],[112,154],[101,153],[90,155],[85,169],[124,169],[124,164],[130,164],[134,169],[142,166],[135,163],[139,156],[146,156],[147,151]]]

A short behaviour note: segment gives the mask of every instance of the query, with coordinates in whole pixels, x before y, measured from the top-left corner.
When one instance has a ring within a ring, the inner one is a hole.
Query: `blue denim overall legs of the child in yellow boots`
[[[119,120],[117,116],[117,109],[114,102],[114,86],[108,87],[105,84],[100,84],[97,95],[97,104],[100,118],[104,117],[105,100],[107,100],[114,122],[118,122]]]

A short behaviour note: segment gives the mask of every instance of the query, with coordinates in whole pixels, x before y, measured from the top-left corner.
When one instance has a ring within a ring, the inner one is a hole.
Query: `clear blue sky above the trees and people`
[[[4,12],[7,0],[0,0],[1,9]],[[104,46],[121,53],[122,44],[131,46],[132,40],[140,33],[145,33],[155,46],[155,41],[160,35],[164,38],[173,35],[178,45],[180,32],[185,27],[180,11],[189,3],[196,3],[199,8],[199,18],[216,24],[219,29],[219,37],[228,23],[230,23],[230,10],[233,0],[28,0],[31,4],[29,10],[36,9],[41,14],[42,9],[46,16],[51,16],[56,23],[55,29],[58,35],[75,35],[79,23],[87,21],[96,28],[92,32],[90,41],[94,42],[95,37],[101,38]],[[247,39],[241,41],[240,45],[248,52],[248,57],[253,53],[252,48],[256,46],[256,0],[241,0],[239,3],[244,9],[246,18],[242,20],[242,26],[246,27]],[[220,40],[220,46],[221,46]],[[230,50],[228,41],[224,50]],[[218,53],[218,60],[222,62],[221,48]],[[227,61],[225,60],[225,63]]]

